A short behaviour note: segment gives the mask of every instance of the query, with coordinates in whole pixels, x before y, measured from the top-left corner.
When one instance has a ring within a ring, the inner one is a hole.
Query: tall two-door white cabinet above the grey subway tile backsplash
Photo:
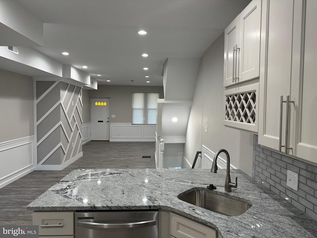
[[[263,11],[259,144],[316,164],[317,1],[265,0]]]

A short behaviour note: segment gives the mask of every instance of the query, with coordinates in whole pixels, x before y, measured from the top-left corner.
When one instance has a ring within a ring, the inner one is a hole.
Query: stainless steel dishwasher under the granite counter
[[[158,238],[158,211],[75,212],[75,238]]]

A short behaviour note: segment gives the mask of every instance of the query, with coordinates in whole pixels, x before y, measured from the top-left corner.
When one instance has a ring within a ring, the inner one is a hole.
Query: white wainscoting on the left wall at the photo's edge
[[[35,169],[34,138],[28,136],[0,143],[0,188]]]

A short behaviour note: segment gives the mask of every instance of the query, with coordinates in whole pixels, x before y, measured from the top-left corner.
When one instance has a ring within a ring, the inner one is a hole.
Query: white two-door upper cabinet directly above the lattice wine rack
[[[253,0],[224,31],[223,86],[260,76],[261,0]]]

